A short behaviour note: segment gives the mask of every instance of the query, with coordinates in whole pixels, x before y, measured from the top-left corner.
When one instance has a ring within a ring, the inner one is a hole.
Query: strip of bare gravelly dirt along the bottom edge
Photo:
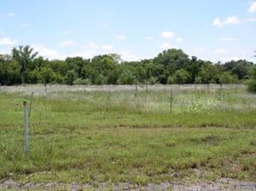
[[[0,183],[0,190],[256,190],[256,182],[241,182],[235,179],[221,178],[217,182],[162,182],[160,184],[148,183],[147,186],[133,185],[131,183],[107,184],[95,183],[19,183],[13,179],[6,179]]]

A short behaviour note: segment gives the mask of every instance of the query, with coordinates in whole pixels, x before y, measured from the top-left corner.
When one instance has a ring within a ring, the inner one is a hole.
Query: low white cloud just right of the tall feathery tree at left
[[[67,58],[67,55],[61,54],[60,52],[54,50],[54,49],[48,49],[45,48],[42,45],[32,45],[32,48],[38,52],[38,55],[42,55],[45,58],[48,59],[60,59],[60,60],[64,60]]]

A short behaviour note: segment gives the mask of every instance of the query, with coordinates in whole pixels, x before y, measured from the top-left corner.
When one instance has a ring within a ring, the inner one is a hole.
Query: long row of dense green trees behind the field
[[[92,59],[48,60],[29,45],[0,55],[0,83],[14,84],[232,84],[250,78],[251,61],[212,63],[191,58],[182,49],[166,49],[153,59],[122,61],[120,55]]]

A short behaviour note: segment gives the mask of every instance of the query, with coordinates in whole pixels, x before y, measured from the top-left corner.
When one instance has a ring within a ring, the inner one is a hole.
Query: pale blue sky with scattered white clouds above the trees
[[[49,60],[166,49],[218,62],[255,61],[255,0],[1,0],[0,55],[29,45]]]

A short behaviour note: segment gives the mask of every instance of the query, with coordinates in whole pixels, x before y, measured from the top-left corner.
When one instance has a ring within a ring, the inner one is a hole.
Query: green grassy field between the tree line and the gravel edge
[[[172,89],[172,108],[171,105]],[[29,156],[24,152],[23,101]],[[0,88],[0,180],[256,180],[256,96],[244,86]]]

